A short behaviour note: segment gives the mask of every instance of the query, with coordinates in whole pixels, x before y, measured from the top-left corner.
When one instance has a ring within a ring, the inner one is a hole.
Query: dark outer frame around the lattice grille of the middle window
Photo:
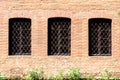
[[[68,43],[70,46],[69,46],[69,53],[64,53],[63,55],[62,55],[62,53],[57,53],[57,54],[52,54],[51,53],[51,45],[50,45],[50,37],[51,37],[51,33],[50,33],[50,28],[51,28],[51,23],[52,22],[54,22],[54,21],[59,21],[59,22],[62,22],[62,21],[68,21],[68,23],[69,23],[69,28],[70,28],[70,30],[69,30],[69,33],[70,33],[70,36],[67,36],[67,37],[69,37],[69,39],[70,39],[70,42]],[[48,50],[48,56],[70,56],[71,55],[71,19],[70,18],[66,18],[66,17],[52,17],[52,18],[48,18],[48,48],[47,48]]]

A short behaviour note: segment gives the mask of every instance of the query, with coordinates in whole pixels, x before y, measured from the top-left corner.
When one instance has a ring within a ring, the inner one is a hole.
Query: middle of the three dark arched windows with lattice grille
[[[71,19],[48,19],[48,55],[70,55]]]

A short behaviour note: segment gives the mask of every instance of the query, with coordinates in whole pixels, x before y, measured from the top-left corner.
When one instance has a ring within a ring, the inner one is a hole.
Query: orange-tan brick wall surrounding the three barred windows
[[[45,74],[75,67],[81,72],[120,69],[120,0],[1,0],[0,72],[41,68]],[[8,19],[32,19],[32,55],[8,55]],[[71,18],[71,56],[47,55],[47,22],[50,17]],[[112,56],[88,56],[88,19],[112,19]]]

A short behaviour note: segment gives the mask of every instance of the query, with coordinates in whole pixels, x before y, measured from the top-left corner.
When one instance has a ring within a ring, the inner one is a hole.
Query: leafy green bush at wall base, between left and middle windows
[[[28,73],[27,80],[43,80],[43,79],[44,79],[43,69],[31,70]]]

